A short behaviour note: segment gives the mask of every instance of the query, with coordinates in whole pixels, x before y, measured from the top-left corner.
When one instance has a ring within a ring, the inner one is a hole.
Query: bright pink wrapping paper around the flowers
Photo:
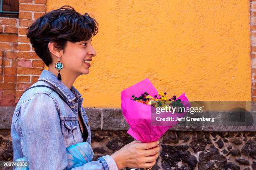
[[[177,125],[179,122],[172,122],[172,126],[151,125],[152,106],[131,100],[132,95],[140,96],[143,92],[147,92],[151,96],[158,95],[157,90],[147,78],[121,92],[121,109],[125,120],[130,125],[127,133],[136,140],[148,143],[159,140],[169,128]],[[177,97],[177,99],[188,102],[185,93]],[[182,113],[178,116],[184,115],[185,113]]]

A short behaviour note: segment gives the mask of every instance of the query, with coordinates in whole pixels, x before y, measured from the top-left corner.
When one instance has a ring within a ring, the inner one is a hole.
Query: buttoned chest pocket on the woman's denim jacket
[[[77,124],[76,120],[61,121],[62,134],[66,143],[66,148],[77,143]]]

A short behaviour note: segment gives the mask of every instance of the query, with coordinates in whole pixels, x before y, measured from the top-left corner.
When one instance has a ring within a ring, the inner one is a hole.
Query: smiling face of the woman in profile
[[[63,67],[77,74],[77,76],[88,74],[89,68],[92,66],[92,57],[96,56],[96,51],[92,47],[91,41],[92,38],[80,42],[67,41],[64,53],[62,53],[64,56],[61,57]]]

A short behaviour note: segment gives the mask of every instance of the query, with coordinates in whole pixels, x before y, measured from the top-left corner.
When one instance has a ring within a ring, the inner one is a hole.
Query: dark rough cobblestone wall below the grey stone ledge
[[[92,131],[93,160],[133,140],[123,130]],[[168,131],[160,146],[153,170],[256,170],[256,132]],[[12,159],[10,132],[1,130],[0,161]]]

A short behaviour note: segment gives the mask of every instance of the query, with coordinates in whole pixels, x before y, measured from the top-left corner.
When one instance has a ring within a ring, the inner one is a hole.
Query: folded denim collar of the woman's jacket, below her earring
[[[44,80],[50,83],[54,89],[58,92],[61,92],[69,102],[72,102],[76,98],[81,101],[81,94],[79,91],[72,85],[71,89],[69,89],[61,80],[58,80],[56,75],[54,75],[49,70],[43,70],[38,80]]]

